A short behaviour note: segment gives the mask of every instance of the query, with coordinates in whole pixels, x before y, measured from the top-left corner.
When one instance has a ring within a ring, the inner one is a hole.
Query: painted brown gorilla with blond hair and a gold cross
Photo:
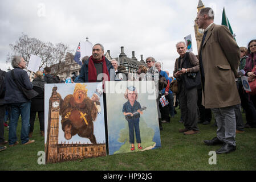
[[[78,134],[96,144],[93,122],[97,118],[97,108],[87,97],[87,91],[86,85],[76,84],[74,93],[64,98],[60,107],[62,130],[67,140]]]

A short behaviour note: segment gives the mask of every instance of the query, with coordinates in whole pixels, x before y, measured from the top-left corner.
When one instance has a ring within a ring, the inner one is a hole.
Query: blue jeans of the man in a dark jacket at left
[[[21,143],[29,142],[29,119],[30,119],[30,104],[31,102],[22,102],[11,104],[11,118],[9,122],[9,144],[14,144],[17,141],[17,125],[19,115],[21,115]]]

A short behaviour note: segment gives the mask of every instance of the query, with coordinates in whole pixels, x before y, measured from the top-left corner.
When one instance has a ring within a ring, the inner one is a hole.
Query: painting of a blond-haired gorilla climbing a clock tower
[[[45,84],[46,163],[106,155],[102,83]]]

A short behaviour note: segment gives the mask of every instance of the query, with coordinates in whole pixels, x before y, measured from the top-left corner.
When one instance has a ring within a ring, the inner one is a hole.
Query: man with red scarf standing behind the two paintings
[[[110,78],[111,69],[113,71],[113,79]],[[103,74],[100,75],[101,73]],[[82,65],[77,82],[100,82],[110,80],[115,80],[115,69],[111,62],[104,56],[104,47],[97,43],[92,47],[92,56]]]

